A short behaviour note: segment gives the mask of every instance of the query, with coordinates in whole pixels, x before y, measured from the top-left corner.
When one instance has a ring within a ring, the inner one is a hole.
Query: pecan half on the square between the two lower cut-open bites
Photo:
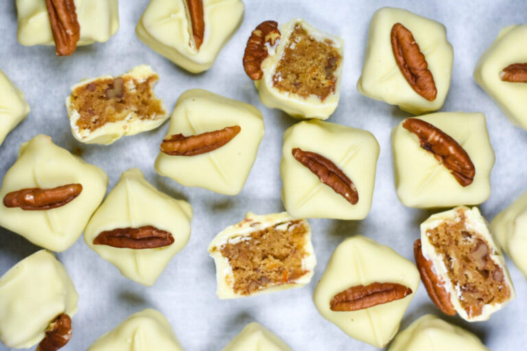
[[[412,289],[395,282],[373,282],[357,285],[341,291],[329,302],[331,311],[358,311],[363,308],[400,300],[412,293]]]

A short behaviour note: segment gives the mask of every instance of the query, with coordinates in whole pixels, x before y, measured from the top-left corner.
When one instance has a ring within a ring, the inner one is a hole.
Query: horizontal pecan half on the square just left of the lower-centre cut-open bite
[[[105,230],[93,239],[94,245],[108,245],[119,248],[126,247],[135,250],[153,249],[172,245],[172,243],[174,243],[172,234],[154,226]]]

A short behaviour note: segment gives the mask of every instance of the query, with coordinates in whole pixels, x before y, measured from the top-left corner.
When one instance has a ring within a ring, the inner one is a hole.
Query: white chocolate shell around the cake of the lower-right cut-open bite
[[[503,302],[502,304],[486,304],[482,308],[481,315],[470,317],[462,308],[458,296],[459,287],[454,287],[451,280],[448,278],[447,267],[445,266],[445,261],[443,261],[443,254],[436,252],[434,246],[430,243],[428,239],[427,230],[431,230],[440,226],[444,221],[455,221],[458,219],[458,209],[461,209],[465,212],[467,226],[473,229],[475,232],[480,234],[482,239],[489,245],[491,249],[491,254],[489,258],[498,266],[502,267],[504,275],[504,285],[507,285],[511,289],[511,298],[508,301]],[[434,273],[445,282],[445,289],[450,293],[450,302],[454,306],[456,312],[462,317],[462,319],[467,320],[468,322],[478,322],[486,321],[491,317],[491,314],[495,311],[502,308],[507,302],[513,300],[515,297],[515,291],[513,283],[511,282],[511,277],[508,275],[507,266],[505,265],[505,258],[500,250],[500,247],[494,243],[494,239],[489,232],[487,227],[487,221],[480,214],[480,210],[477,207],[468,208],[465,206],[458,206],[452,208],[452,210],[447,210],[445,212],[436,213],[428,217],[426,221],[421,223],[421,247],[423,251],[423,256],[428,260],[432,261],[432,270]]]

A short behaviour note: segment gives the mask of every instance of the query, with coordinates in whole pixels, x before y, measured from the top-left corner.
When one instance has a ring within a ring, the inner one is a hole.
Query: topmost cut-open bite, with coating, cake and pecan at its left
[[[327,119],[337,108],[344,42],[294,19],[265,21],[251,33],[243,58],[261,102],[297,118]]]

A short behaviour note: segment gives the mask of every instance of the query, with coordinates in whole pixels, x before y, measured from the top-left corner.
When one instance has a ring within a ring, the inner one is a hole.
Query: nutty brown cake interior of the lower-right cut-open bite
[[[501,304],[511,296],[504,281],[504,271],[490,257],[487,241],[466,223],[459,210],[457,221],[445,221],[426,234],[436,252],[443,254],[447,274],[455,287],[459,302],[469,317],[482,313],[486,304]]]

